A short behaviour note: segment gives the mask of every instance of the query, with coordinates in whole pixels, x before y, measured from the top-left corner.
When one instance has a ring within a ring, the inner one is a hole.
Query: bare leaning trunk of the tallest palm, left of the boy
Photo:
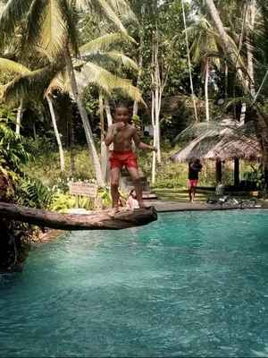
[[[77,106],[79,108],[79,112],[80,112],[80,117],[83,123],[83,127],[84,127],[84,131],[86,134],[86,139],[87,139],[87,143],[88,143],[88,149],[89,149],[89,153],[90,156],[92,158],[92,162],[93,162],[93,166],[95,169],[95,174],[96,174],[96,183],[98,186],[105,186],[105,181],[102,175],[102,169],[101,169],[101,165],[100,165],[100,161],[99,158],[97,156],[97,152],[96,152],[96,146],[95,146],[95,142],[93,139],[93,133],[90,127],[90,124],[88,122],[88,114],[87,111],[83,105],[82,99],[80,98],[80,93],[78,90],[78,86],[77,86],[77,82],[75,79],[75,75],[74,75],[74,71],[73,71],[73,66],[71,63],[71,56],[69,54],[69,50],[67,49],[65,52],[65,62],[66,62],[66,68],[67,68],[67,72],[68,72],[68,76],[69,79],[71,81],[71,92],[73,97],[76,100]]]

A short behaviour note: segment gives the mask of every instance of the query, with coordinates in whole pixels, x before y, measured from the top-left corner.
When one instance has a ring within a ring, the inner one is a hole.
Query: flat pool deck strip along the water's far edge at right
[[[201,210],[230,210],[230,209],[268,209],[268,201],[259,202],[257,207],[241,208],[240,205],[225,206],[224,204],[207,204],[206,202],[184,202],[184,201],[165,201],[149,200],[150,205],[154,206],[158,212],[171,211],[201,211]]]

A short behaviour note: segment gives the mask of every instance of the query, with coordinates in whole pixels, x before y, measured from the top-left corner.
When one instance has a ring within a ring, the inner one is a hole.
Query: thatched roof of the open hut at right
[[[197,138],[175,153],[172,160],[175,162],[189,161],[193,158],[257,160],[260,157],[261,149],[254,125],[247,123],[244,126],[235,124],[225,127],[221,124],[218,129],[207,125],[206,131],[201,131]]]

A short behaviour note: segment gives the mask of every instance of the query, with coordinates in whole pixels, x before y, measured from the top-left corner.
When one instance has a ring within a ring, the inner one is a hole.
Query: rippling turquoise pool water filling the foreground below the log
[[[0,277],[0,356],[268,356],[267,283],[268,211],[66,234]]]

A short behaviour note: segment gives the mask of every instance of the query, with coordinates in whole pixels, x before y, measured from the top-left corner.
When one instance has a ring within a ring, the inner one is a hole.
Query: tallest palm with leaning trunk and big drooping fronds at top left
[[[126,33],[118,15],[132,16],[130,6],[124,0],[45,0],[40,5],[37,0],[9,0],[0,17],[0,30],[6,38],[13,36],[14,29],[23,22],[24,36],[22,38],[25,51],[31,45],[38,45],[51,60],[62,57],[65,61],[68,77],[71,82],[71,92],[75,98],[80,117],[85,130],[88,149],[96,171],[96,182],[104,185],[100,162],[96,152],[87,111],[83,105],[80,91],[75,78],[71,54],[79,53],[77,37],[78,11],[98,11],[113,22],[114,26]],[[3,45],[3,44],[2,44]]]

